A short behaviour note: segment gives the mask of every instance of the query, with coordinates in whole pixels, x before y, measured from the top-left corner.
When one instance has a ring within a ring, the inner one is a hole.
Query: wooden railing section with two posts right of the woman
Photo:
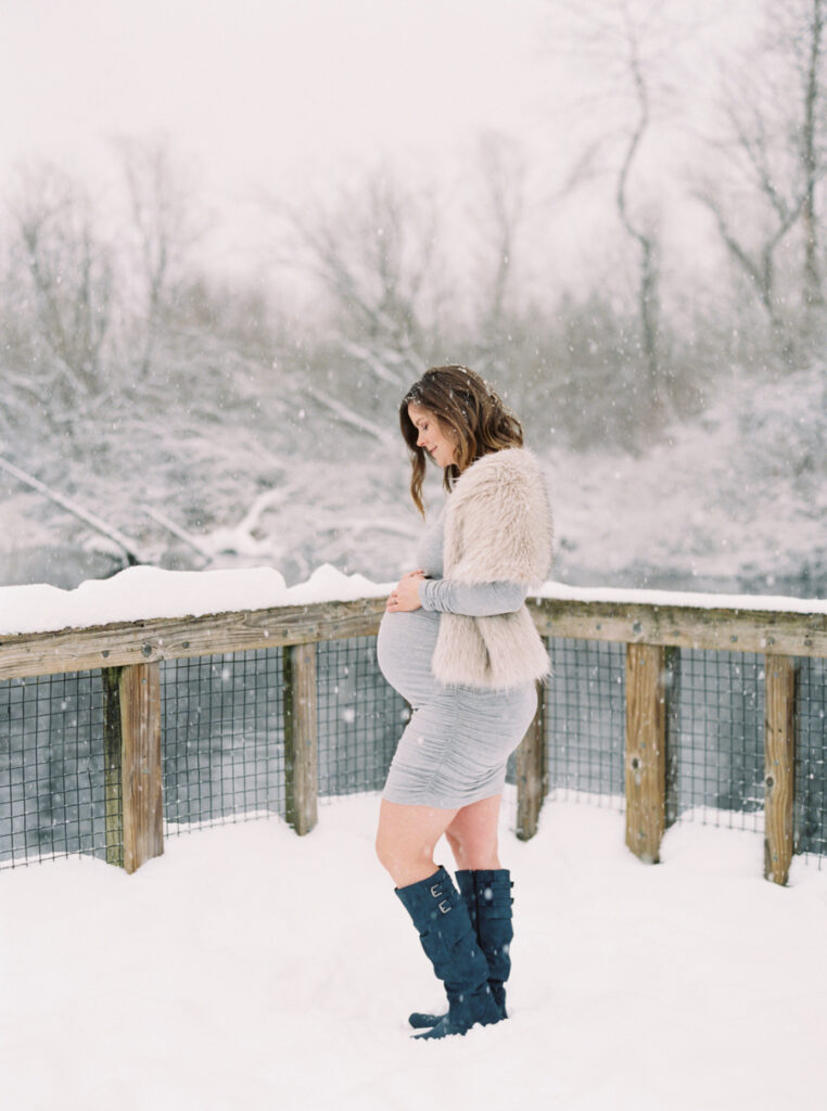
[[[827,613],[558,599],[542,600],[534,612],[545,637],[626,644],[626,843],[651,862],[659,860],[666,828],[677,649],[765,655],[764,874],[786,883],[794,850],[795,657],[827,657]]]

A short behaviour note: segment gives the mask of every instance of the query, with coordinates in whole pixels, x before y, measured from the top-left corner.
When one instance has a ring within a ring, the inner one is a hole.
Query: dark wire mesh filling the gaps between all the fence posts
[[[381,789],[409,709],[371,637],[316,645],[321,798]],[[544,695],[549,794],[625,800],[625,645],[555,638]],[[763,828],[764,657],[670,650],[670,821]],[[161,664],[167,834],[285,817],[281,649]],[[0,682],[0,868],[112,859],[99,671]],[[796,851],[827,858],[827,661],[797,661]],[[509,781],[514,782],[511,764]],[[109,844],[108,844],[109,842]]]

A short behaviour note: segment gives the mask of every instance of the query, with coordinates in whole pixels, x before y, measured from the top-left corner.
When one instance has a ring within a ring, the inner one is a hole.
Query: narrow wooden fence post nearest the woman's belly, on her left
[[[283,675],[287,820],[302,835],[318,820],[316,644],[286,648]]]

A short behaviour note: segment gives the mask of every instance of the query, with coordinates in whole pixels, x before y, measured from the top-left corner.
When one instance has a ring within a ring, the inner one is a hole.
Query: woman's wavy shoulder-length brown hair
[[[479,374],[457,366],[426,370],[399,406],[399,424],[414,468],[410,496],[424,516],[426,452],[417,447],[419,430],[408,416],[411,401],[434,413],[442,432],[457,443],[457,463],[445,468],[446,490],[450,490],[460,473],[482,456],[504,448],[522,447],[522,426]]]

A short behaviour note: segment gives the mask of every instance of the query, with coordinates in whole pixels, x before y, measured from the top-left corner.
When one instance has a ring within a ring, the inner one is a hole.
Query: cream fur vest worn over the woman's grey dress
[[[495,451],[464,471],[448,498],[442,574],[468,585],[537,587],[552,539],[537,460],[525,448]],[[548,674],[548,652],[525,605],[486,618],[441,613],[431,670],[444,683],[505,689]]]

